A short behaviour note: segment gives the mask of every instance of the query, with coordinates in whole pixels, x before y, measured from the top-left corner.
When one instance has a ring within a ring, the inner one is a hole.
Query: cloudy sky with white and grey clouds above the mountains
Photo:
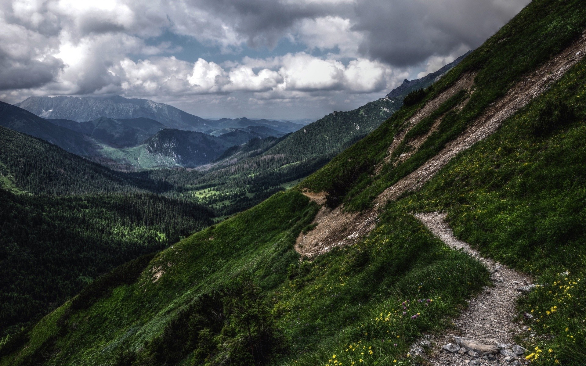
[[[529,0],[1,0],[0,100],[317,119],[475,49]]]

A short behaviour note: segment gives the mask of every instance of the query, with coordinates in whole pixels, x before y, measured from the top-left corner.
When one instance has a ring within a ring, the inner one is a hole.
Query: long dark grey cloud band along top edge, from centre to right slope
[[[274,0],[200,0],[230,24],[250,47],[273,47],[299,20],[336,15],[364,33],[363,56],[393,66],[410,66],[432,55],[474,48],[512,18],[529,0],[360,0],[280,2]]]

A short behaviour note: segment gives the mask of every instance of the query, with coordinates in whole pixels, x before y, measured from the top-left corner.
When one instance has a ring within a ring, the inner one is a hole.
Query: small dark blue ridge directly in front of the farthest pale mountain
[[[113,147],[135,146],[167,128],[151,118],[106,118],[100,117],[88,122],[70,119],[47,119],[54,125],[69,128],[107,143]]]

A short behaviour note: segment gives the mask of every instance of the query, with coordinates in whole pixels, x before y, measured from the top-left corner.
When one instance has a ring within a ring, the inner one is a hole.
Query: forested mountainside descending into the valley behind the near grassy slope
[[[429,80],[434,78],[437,76],[426,76],[414,80],[413,85],[429,85]],[[269,193],[290,187],[390,118],[401,108],[409,91],[394,90],[391,93],[397,97],[380,98],[351,111],[332,112],[280,139],[255,139],[243,146],[233,146],[213,162],[198,168],[205,175],[196,180],[196,187],[213,187],[214,191],[221,192],[206,196],[202,203],[222,202],[217,207],[224,214],[233,214],[259,203]]]

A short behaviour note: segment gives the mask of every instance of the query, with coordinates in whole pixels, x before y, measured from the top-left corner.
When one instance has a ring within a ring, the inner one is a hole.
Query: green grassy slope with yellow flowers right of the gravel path
[[[447,210],[458,237],[544,285],[518,308],[533,316],[526,323],[536,336],[523,337],[542,350],[530,357],[536,364],[580,364],[586,356],[585,85],[582,61],[403,200],[408,210]],[[577,117],[536,134],[530,127],[552,102],[567,103]]]

